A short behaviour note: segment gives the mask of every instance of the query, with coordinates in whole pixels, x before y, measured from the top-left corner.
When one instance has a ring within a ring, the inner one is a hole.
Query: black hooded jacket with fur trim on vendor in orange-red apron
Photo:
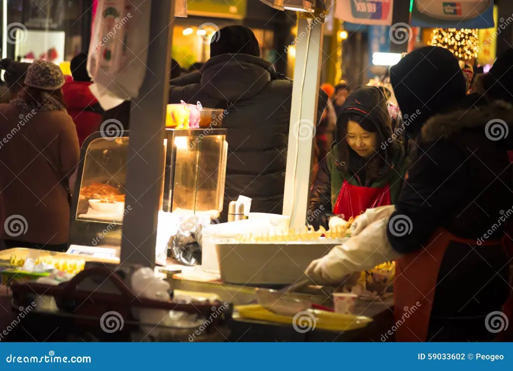
[[[448,242],[432,288],[428,339],[486,339],[484,318],[499,311],[509,294],[506,252],[497,242],[485,242],[500,240],[506,219],[513,216],[506,152],[513,148],[513,107],[496,102],[469,109],[464,102],[455,109],[465,98],[465,81],[458,60],[442,48],[410,53],[391,74],[401,110],[423,114],[409,123],[407,133],[417,133],[411,136],[412,165],[390,216],[408,226],[397,233],[389,225],[387,238],[400,254],[419,253],[425,259],[432,259],[429,246],[442,243],[443,230],[476,241]],[[467,328],[472,318],[477,325]]]

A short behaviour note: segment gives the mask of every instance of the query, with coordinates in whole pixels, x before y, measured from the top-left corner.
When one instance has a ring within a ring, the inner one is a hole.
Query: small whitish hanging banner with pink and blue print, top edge
[[[393,0],[337,0],[335,17],[360,25],[390,26]]]

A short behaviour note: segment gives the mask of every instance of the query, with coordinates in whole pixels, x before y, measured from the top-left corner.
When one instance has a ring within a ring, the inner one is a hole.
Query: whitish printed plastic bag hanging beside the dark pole
[[[89,46],[90,90],[104,110],[136,98],[148,59],[151,2],[100,0]]]

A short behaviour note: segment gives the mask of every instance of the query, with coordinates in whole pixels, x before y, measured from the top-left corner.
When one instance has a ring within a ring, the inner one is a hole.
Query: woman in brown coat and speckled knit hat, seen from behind
[[[6,248],[66,251],[69,177],[80,147],[61,69],[36,60],[25,86],[0,105],[0,231]]]

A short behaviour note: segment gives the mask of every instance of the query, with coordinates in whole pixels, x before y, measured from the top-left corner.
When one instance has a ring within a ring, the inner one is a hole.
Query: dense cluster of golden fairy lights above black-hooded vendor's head
[[[478,57],[479,33],[474,29],[436,28],[429,45],[448,49],[459,60],[469,61]]]

